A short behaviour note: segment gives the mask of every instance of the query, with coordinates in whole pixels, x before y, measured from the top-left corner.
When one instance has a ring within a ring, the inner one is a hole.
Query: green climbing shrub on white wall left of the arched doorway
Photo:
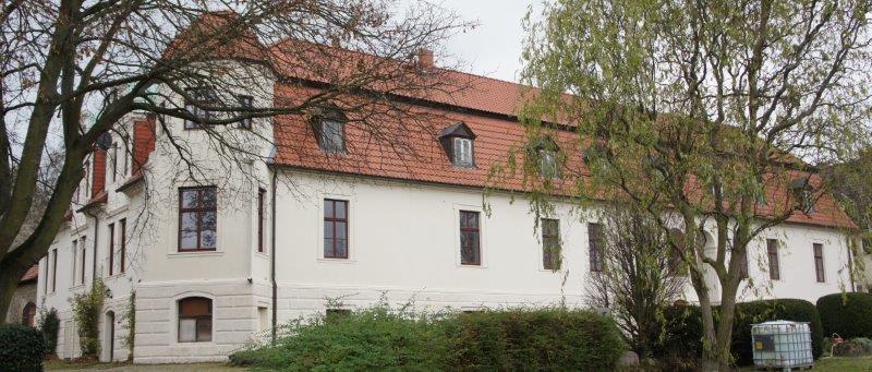
[[[94,280],[89,291],[74,295],[70,299],[73,320],[78,325],[82,358],[97,358],[100,353],[100,312],[105,299],[106,285],[99,278]]]

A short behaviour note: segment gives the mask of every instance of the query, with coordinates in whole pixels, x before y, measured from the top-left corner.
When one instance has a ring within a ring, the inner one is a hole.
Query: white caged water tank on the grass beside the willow
[[[814,364],[809,323],[772,321],[751,326],[754,365],[782,368]]]

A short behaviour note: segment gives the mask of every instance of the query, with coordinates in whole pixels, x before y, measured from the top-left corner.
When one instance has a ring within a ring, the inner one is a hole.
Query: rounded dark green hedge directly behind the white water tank
[[[814,359],[823,352],[823,326],[821,316],[813,303],[798,299],[762,300],[738,303],[732,323],[732,345],[730,350],[738,365],[754,362],[751,344],[751,325],[768,321],[808,322],[811,331],[812,355]]]

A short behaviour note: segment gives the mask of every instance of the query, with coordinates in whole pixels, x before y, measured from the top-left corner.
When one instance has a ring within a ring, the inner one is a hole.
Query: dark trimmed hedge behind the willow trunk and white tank
[[[714,309],[715,324],[719,317],[718,310],[717,307]],[[673,368],[691,368],[703,351],[700,308],[695,305],[670,308],[664,312],[664,317],[666,335],[655,357]],[[798,299],[741,302],[736,304],[730,345],[730,352],[737,365],[753,363],[751,325],[776,320],[808,322],[811,328],[813,356],[815,359],[821,356],[824,328],[814,304]]]

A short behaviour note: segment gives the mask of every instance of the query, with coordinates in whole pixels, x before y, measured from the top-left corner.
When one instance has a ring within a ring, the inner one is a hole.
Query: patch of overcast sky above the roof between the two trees
[[[463,20],[477,24],[474,29],[456,35],[445,45],[445,51],[456,56],[465,65],[463,70],[500,80],[518,81],[521,40],[524,36],[521,19],[526,14],[530,4],[541,3],[541,0],[432,1],[455,11]],[[439,57],[436,56],[437,65]]]

